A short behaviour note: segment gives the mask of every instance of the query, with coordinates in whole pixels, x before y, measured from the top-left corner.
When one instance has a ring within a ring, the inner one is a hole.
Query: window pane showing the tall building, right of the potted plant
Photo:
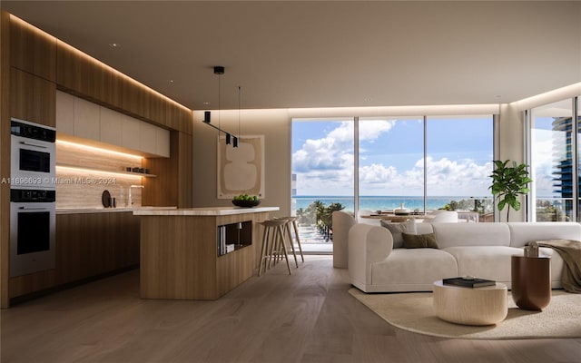
[[[572,102],[530,110],[530,172],[532,221],[572,221],[574,209],[574,153]]]

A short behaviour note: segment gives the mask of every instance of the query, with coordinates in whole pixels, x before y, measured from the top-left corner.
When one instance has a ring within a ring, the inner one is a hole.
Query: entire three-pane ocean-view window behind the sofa
[[[306,243],[320,242],[321,231],[329,239],[326,225],[337,209],[385,211],[403,203],[493,220],[492,115],[295,119],[291,143],[292,212]]]

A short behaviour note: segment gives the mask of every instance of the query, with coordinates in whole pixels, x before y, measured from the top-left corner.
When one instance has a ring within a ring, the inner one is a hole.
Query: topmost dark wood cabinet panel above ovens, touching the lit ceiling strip
[[[56,39],[11,17],[10,63],[47,81],[56,80]]]

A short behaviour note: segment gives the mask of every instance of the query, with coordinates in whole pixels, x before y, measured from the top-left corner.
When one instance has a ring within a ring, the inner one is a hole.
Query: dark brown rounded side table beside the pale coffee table
[[[551,301],[551,259],[512,256],[512,299],[525,310],[542,310]]]

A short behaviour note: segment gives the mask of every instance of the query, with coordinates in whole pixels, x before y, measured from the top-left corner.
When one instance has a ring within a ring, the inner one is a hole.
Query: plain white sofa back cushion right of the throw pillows
[[[506,223],[432,223],[440,249],[455,246],[510,246]]]

